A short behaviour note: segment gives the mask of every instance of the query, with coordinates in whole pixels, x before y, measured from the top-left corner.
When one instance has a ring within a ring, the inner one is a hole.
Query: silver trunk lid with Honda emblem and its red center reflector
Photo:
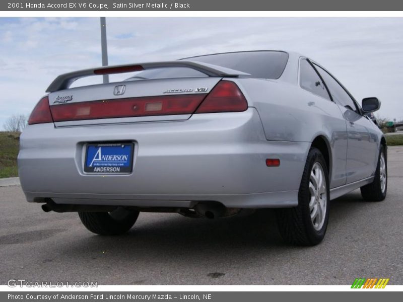
[[[152,79],[51,92],[56,127],[186,120],[221,77]]]

